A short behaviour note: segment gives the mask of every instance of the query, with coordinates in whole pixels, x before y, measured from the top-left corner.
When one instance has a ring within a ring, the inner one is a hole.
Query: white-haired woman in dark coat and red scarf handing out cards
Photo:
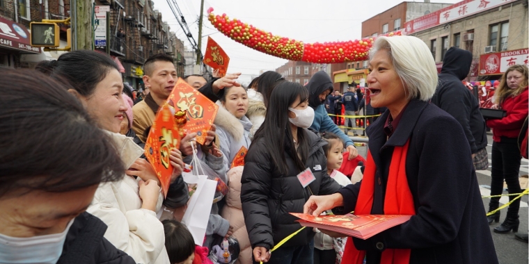
[[[369,70],[371,104],[388,110],[368,127],[363,180],[310,197],[303,211],[412,215],[367,240],[348,238],[342,263],[498,263],[464,131],[429,103],[437,72],[426,44],[378,38]]]

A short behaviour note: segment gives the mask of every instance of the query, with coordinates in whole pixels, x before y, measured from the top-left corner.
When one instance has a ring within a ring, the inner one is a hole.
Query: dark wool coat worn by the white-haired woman
[[[386,111],[367,130],[377,166],[371,213],[384,213],[393,149],[410,140],[406,176],[416,215],[368,240],[353,238],[355,247],[367,251],[370,264],[379,263],[386,248],[411,249],[410,263],[498,263],[471,149],[459,122],[434,104],[412,100],[388,139],[388,115]],[[361,183],[339,191],[344,208],[335,213],[354,211]]]

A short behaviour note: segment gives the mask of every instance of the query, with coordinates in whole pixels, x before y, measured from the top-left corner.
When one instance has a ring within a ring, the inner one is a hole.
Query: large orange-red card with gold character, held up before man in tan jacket
[[[213,124],[219,106],[181,78],[176,82],[175,88],[169,94],[167,101],[168,104],[175,107],[175,112],[182,111],[187,113],[184,132],[186,134],[196,132],[196,142],[204,145],[207,131],[210,130],[211,124]]]

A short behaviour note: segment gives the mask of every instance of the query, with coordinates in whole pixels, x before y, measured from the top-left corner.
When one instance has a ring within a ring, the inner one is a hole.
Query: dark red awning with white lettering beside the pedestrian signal
[[[29,31],[26,26],[0,17],[0,48],[14,49],[19,53],[40,53],[39,47],[29,44]]]

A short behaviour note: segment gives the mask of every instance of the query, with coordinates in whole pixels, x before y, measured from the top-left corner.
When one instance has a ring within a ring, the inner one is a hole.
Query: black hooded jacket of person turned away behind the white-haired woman
[[[470,72],[471,63],[470,51],[456,47],[446,51],[432,103],[452,115],[463,126],[468,145],[475,154],[487,147],[487,132],[480,105],[462,82]]]

